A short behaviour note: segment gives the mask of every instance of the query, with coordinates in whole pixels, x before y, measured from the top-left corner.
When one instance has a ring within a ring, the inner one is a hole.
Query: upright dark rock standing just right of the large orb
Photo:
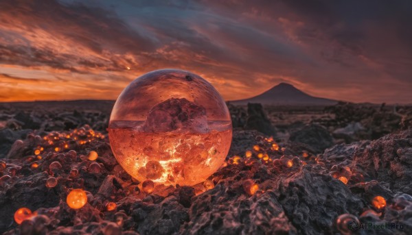
[[[275,127],[272,126],[271,121],[264,113],[262,104],[248,103],[247,104],[247,122],[244,126],[247,129],[255,129],[258,132],[267,134],[268,136],[275,136]]]

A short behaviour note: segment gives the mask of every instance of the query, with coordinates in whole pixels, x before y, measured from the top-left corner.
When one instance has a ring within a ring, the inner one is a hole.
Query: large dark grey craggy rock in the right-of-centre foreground
[[[307,170],[282,180],[277,195],[299,234],[331,232],[339,214],[356,214],[365,206],[339,180]]]

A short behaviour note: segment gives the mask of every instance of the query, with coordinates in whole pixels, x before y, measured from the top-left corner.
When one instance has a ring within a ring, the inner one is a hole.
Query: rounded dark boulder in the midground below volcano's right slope
[[[304,128],[290,134],[290,141],[304,143],[314,152],[321,153],[333,145],[333,138],[325,127],[317,124],[306,125]]]

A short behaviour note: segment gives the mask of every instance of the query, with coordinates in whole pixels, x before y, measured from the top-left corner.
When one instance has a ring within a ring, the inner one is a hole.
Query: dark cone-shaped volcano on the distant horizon
[[[311,95],[302,92],[290,84],[280,83],[273,86],[266,92],[251,97],[249,99],[240,99],[237,101],[230,101],[232,104],[242,105],[247,103],[262,103],[264,105],[293,105],[293,106],[330,106],[336,104],[338,101],[333,99],[325,99],[319,97],[312,97]]]

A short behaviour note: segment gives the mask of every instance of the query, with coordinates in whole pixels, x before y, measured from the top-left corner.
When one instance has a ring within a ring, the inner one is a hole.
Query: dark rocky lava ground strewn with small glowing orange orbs
[[[245,111],[244,123],[233,122],[237,127],[227,162],[205,184],[157,185],[151,191],[115,161],[105,131],[107,112],[5,107],[0,115],[0,232],[412,233],[412,129],[336,145],[320,121],[290,123],[295,128],[288,138],[277,135],[279,126],[266,113],[253,106]],[[89,160],[91,151],[98,153],[96,160]],[[56,186],[47,182],[50,177]],[[67,205],[72,188],[87,191],[83,208]],[[18,225],[13,215],[23,207],[35,215]],[[359,227],[365,224],[384,227]]]

